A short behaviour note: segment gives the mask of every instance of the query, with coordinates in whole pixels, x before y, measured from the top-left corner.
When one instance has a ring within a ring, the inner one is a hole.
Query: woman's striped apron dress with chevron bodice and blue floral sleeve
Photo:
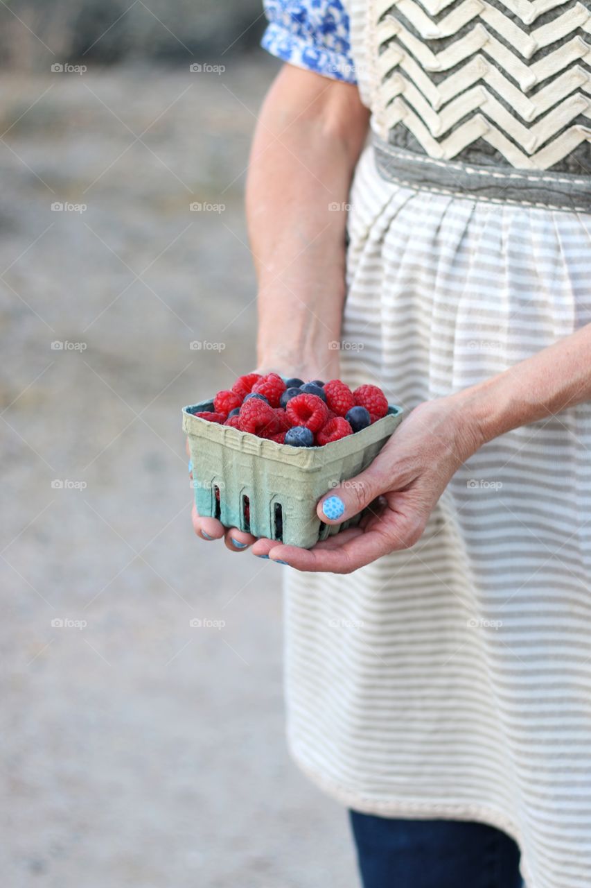
[[[413,408],[591,321],[590,0],[267,7],[271,52],[372,111],[346,382]],[[362,812],[504,829],[528,888],[591,884],[590,446],[589,403],[517,428],[413,549],[287,577],[303,771]]]

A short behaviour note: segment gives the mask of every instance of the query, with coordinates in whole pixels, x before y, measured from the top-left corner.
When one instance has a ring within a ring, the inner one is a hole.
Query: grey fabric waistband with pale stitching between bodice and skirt
[[[493,203],[591,212],[591,170],[581,170],[581,175],[576,176],[548,170],[475,166],[436,160],[389,145],[375,135],[373,141],[380,175],[398,185]]]

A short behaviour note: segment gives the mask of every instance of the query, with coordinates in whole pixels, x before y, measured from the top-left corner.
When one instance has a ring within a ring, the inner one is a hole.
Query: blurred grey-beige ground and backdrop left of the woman
[[[288,568],[189,520],[180,409],[254,364],[263,29],[258,0],[0,3],[10,888],[357,884],[285,749]]]

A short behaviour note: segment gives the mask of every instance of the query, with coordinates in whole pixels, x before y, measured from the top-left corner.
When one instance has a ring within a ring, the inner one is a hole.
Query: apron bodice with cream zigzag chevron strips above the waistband
[[[442,160],[591,174],[591,0],[371,0],[374,118]]]

